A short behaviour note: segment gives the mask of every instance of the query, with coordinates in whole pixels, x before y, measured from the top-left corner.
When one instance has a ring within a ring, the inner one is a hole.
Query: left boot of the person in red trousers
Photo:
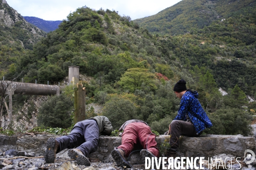
[[[125,151],[122,149],[112,150],[111,155],[115,159],[117,166],[125,166],[131,168],[131,164],[125,160]]]

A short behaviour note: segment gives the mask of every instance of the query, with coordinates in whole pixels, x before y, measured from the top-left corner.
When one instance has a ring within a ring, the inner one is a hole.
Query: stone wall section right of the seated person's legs
[[[218,154],[230,154],[236,157],[243,157],[244,150],[255,148],[253,137],[241,135],[202,135],[199,137],[184,136],[180,141],[180,152],[186,151],[195,154],[202,154],[205,157],[212,157]]]

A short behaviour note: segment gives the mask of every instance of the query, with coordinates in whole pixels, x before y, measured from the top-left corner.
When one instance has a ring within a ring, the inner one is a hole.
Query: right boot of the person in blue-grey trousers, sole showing
[[[77,164],[79,165],[90,166],[89,159],[87,159],[86,156],[84,156],[84,153],[82,153],[82,151],[79,149],[70,149],[68,150],[67,155],[71,159],[76,159]]]

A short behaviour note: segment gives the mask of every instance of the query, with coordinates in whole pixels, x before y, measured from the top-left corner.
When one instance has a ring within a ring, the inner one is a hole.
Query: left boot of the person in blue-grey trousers
[[[46,150],[44,153],[44,160],[46,163],[53,163],[55,161],[56,152],[59,149],[59,144],[54,138],[49,138],[46,143]]]

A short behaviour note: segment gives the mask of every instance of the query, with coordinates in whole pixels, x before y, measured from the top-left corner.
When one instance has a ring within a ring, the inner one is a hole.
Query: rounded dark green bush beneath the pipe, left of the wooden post
[[[70,127],[72,125],[71,112],[73,108],[73,101],[63,94],[49,97],[39,108],[38,125],[44,125],[45,127]]]

